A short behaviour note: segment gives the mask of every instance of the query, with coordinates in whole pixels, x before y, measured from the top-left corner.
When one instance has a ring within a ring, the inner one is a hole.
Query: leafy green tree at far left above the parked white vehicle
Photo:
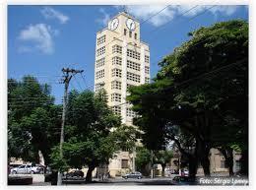
[[[32,76],[21,82],[8,80],[8,158],[38,162],[41,151],[45,163],[49,162],[60,121],[60,109],[53,100],[50,87],[40,85]]]

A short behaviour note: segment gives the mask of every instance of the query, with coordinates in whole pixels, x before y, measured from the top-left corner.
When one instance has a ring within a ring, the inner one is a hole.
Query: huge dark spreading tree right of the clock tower
[[[190,133],[195,138],[194,155],[190,156],[201,162],[205,175],[210,175],[210,149],[217,147],[217,140],[223,148],[228,143],[218,137],[220,131],[225,139],[243,148],[246,158],[248,24],[223,22],[189,34],[190,40],[160,62],[154,83],[131,88],[128,100],[142,115],[138,125],[146,134],[159,129],[162,144],[171,126]],[[147,127],[150,120],[155,121],[155,127]],[[223,130],[229,128],[233,129],[231,134]],[[175,134],[165,139],[175,140]]]

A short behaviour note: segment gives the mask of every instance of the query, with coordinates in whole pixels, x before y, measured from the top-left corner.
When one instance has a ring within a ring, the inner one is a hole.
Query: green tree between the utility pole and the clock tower
[[[104,91],[96,95],[89,91],[69,94],[63,158],[71,167],[88,165],[87,181],[92,181],[96,166],[108,163],[117,147],[110,130],[118,128],[121,121],[106,102]],[[53,149],[51,157],[57,162],[52,165],[59,166],[61,163],[56,150]]]

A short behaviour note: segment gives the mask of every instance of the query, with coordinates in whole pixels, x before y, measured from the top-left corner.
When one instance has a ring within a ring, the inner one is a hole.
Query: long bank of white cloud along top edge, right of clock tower
[[[167,5],[128,5],[126,9],[128,13],[133,15],[135,18],[142,21],[147,20],[152,17],[148,22],[155,27],[160,27],[165,23],[176,19],[183,14],[183,17],[195,16],[206,9],[211,8],[212,6],[200,5],[195,7],[195,5],[170,5],[165,8]],[[114,6],[117,9],[120,9],[121,6]],[[164,9],[165,8],[165,9]],[[213,15],[226,15],[230,16],[238,9],[238,6],[234,5],[224,5],[224,6],[215,6],[209,9]],[[162,10],[162,11],[161,11]],[[161,11],[161,12],[160,12]],[[159,13],[160,12],[160,13]],[[157,14],[159,13],[159,14]],[[155,16],[156,15],[156,16]]]

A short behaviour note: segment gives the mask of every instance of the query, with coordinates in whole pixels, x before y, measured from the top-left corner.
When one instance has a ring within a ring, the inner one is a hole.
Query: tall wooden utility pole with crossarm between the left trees
[[[64,78],[63,83],[65,85],[65,89],[64,89],[62,122],[61,122],[61,132],[60,132],[60,145],[59,145],[60,158],[63,158],[62,146],[63,146],[63,143],[64,143],[64,126],[65,126],[65,115],[66,115],[66,104],[67,104],[69,82],[70,82],[70,80],[72,79],[72,77],[74,75],[76,75],[77,73],[83,73],[84,70],[75,70],[75,69],[63,68],[62,72],[63,72],[63,78]],[[59,169],[57,185],[61,185],[61,184],[62,184],[62,172]]]

